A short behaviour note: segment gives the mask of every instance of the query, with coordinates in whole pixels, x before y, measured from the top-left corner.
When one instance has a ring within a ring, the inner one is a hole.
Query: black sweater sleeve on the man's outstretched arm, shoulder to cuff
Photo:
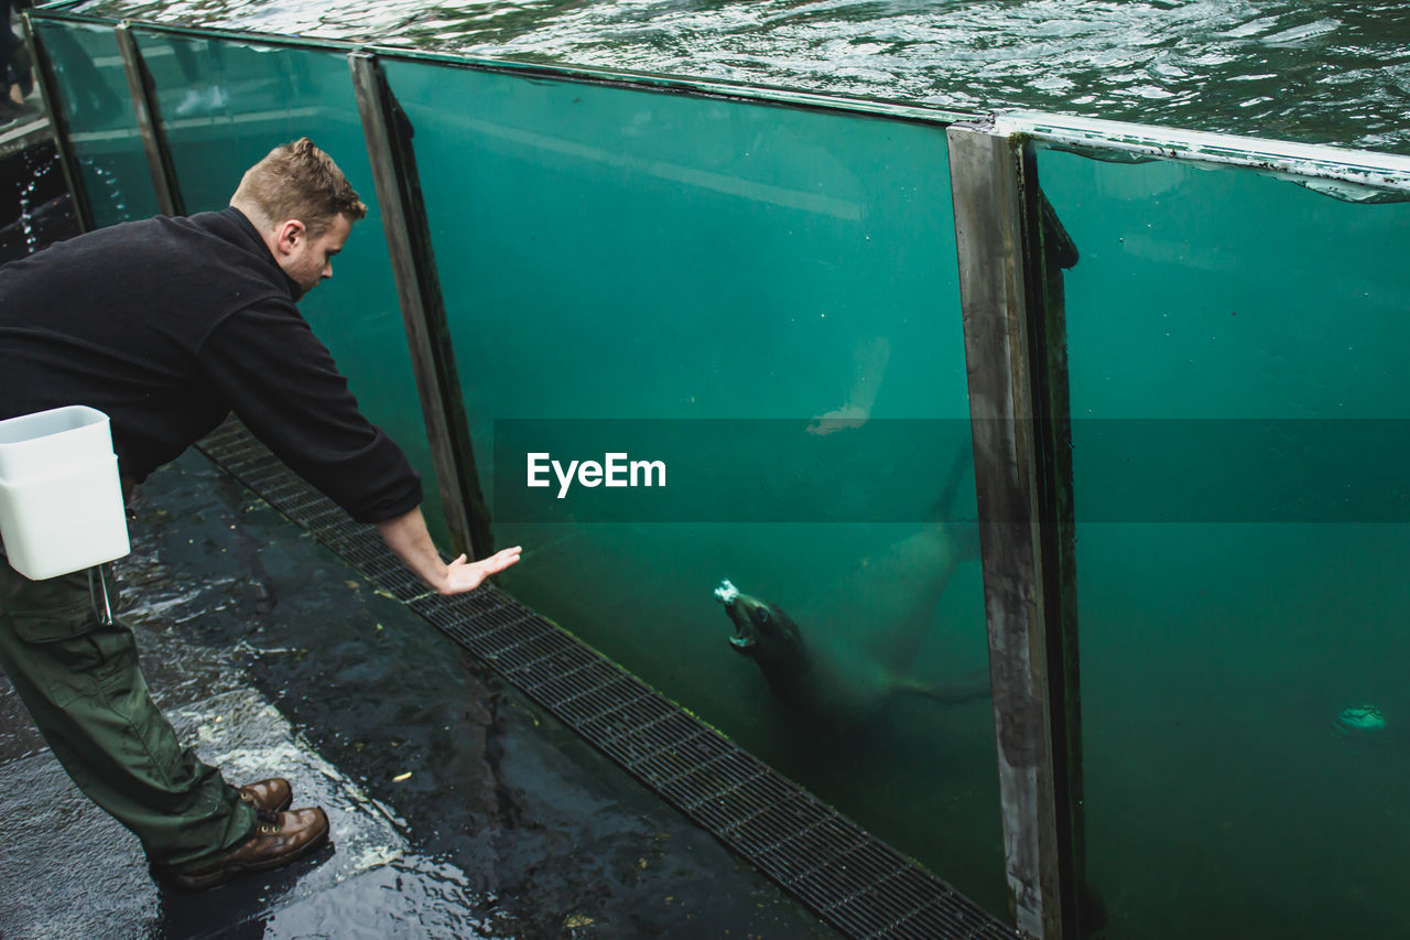
[[[333,356],[292,303],[265,301],[224,318],[199,364],[255,438],[358,522],[420,505],[416,471],[358,411]]]

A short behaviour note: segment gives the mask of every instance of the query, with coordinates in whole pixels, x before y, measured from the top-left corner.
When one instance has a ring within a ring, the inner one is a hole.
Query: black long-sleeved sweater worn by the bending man
[[[0,419],[90,405],[141,483],[231,411],[360,522],[420,504],[358,411],[302,294],[237,209],[147,219],[0,268]]]

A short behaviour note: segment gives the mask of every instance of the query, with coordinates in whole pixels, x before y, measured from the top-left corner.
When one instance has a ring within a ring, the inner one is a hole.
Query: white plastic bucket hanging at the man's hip
[[[69,405],[0,421],[0,536],[35,582],[131,550],[107,415]]]

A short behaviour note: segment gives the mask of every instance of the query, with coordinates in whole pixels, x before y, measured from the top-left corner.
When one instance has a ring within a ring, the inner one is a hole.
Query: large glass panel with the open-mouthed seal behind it
[[[790,488],[771,486],[719,515],[685,498],[670,525],[644,494],[605,521],[570,494],[530,524],[506,511],[525,452],[508,478],[482,459],[496,539],[526,549],[505,583],[1003,915],[988,699],[897,694],[987,693],[973,539],[936,525],[974,518],[973,476],[945,484],[970,452],[943,128],[386,69],[416,127],[478,456],[540,419],[599,459],[627,439],[674,447],[680,478],[721,491],[754,467],[826,480],[812,517],[770,504]],[[878,480],[921,508],[869,514]],[[797,620],[815,672],[770,686],[757,651],[736,653],[723,579]]]

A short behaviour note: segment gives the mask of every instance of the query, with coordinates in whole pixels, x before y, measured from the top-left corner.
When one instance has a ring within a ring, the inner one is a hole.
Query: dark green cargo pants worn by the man
[[[89,572],[31,582],[0,555],[0,668],[79,789],[152,862],[199,867],[250,838],[255,813],[180,747],[147,692],[133,631],[102,622],[102,608]]]

